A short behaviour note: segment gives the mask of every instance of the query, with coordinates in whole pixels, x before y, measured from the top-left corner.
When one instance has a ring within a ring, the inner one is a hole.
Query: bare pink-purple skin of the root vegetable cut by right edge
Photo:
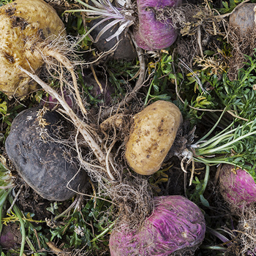
[[[246,170],[224,165],[219,173],[219,187],[222,196],[233,208],[256,203],[256,184]]]

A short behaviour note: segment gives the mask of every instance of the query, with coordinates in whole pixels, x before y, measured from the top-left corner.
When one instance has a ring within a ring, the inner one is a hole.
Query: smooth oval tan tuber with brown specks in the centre
[[[157,172],[173,145],[182,122],[178,107],[163,100],[148,105],[136,114],[125,152],[132,170],[141,175]]]

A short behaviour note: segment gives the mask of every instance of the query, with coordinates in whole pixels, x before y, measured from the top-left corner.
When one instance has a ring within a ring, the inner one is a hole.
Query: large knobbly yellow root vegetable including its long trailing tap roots
[[[66,56],[67,53],[70,53],[70,55],[73,53],[75,42],[69,42],[65,37],[64,24],[56,12],[42,0],[17,0],[1,7],[1,13],[1,26],[4,34],[0,38],[0,46],[3,45],[3,49],[9,49],[9,53],[13,53],[12,55],[15,56],[10,55],[14,58],[14,63],[10,66],[2,67],[1,70],[7,70],[7,72],[3,71],[1,74],[10,74],[7,78],[19,88],[20,80],[22,81],[23,78],[26,81],[32,79],[39,83],[51,97],[56,98],[64,108],[63,112],[67,113],[67,116],[73,121],[75,127],[78,128],[92,151],[94,151],[99,162],[105,167],[105,153],[97,144],[97,138],[95,139],[89,132],[90,127],[82,121],[82,119],[86,118],[87,111],[78,90],[77,78],[74,72],[75,61],[69,61]],[[15,17],[18,17],[16,19],[20,20],[20,23],[17,23],[17,26],[12,26],[12,18]],[[29,22],[30,20],[31,22]],[[52,31],[58,36],[55,36]],[[48,37],[49,35],[53,36]],[[3,65],[7,64],[8,60],[6,58],[2,58],[2,60]],[[61,86],[64,84],[69,91],[72,91],[74,102],[78,104],[80,112],[83,114],[82,119],[69,107],[64,95],[59,95],[38,77],[37,72],[42,64],[47,64],[49,73],[46,75],[50,74],[52,76],[50,69],[51,71],[53,70],[53,72],[56,72],[56,78],[60,80]],[[10,71],[12,72],[9,73]],[[69,73],[69,76],[71,75],[72,81],[67,78],[68,75],[65,77],[66,73]],[[3,77],[2,81],[4,78],[6,77]],[[9,83],[3,82],[3,84],[4,88],[6,88]],[[12,83],[10,83],[11,85]],[[15,86],[13,87],[15,91],[10,92],[10,95],[18,92]],[[4,91],[8,93],[7,90]],[[23,92],[16,95],[21,96]]]

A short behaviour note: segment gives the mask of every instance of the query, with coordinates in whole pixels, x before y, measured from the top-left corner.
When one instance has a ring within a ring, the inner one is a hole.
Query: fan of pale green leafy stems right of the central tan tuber
[[[202,162],[206,165],[226,163],[239,167],[245,167],[249,164],[254,167],[256,118],[254,121],[247,121],[244,125],[234,127],[235,124],[236,121],[233,121],[229,127],[218,132],[212,138],[199,140],[191,145],[190,149],[195,162]],[[211,129],[211,132],[213,132],[213,129]]]

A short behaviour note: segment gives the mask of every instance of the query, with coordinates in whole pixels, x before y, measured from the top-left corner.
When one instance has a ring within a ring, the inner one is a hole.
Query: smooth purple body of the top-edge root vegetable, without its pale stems
[[[138,27],[134,29],[135,41],[144,50],[161,50],[175,42],[178,31],[171,23],[156,20],[151,7],[179,7],[182,0],[137,0]]]

